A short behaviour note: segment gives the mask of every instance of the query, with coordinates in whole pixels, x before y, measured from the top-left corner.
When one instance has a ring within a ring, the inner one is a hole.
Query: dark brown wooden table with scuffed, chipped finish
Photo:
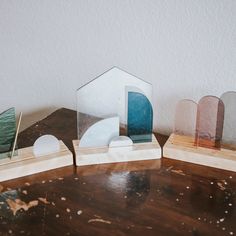
[[[42,134],[72,150],[75,111],[34,124],[19,146]],[[236,235],[236,173],[167,158],[71,166],[2,182],[0,191],[0,235]],[[38,204],[14,216],[5,202],[12,193]]]

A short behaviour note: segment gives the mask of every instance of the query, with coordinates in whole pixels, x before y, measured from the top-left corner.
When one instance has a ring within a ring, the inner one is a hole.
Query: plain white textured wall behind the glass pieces
[[[153,83],[169,133],[179,99],[236,90],[236,1],[0,0],[0,111],[23,128],[112,66]]]

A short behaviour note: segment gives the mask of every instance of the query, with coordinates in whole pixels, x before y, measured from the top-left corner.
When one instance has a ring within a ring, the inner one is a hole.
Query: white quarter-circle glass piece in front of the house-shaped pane
[[[79,142],[79,147],[109,146],[110,141],[119,136],[119,117],[100,120],[87,129]]]

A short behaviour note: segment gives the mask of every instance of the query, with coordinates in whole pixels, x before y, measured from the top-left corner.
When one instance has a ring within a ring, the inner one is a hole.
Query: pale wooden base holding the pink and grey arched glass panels
[[[163,148],[163,156],[175,160],[236,171],[236,151],[194,146],[194,138],[172,134]]]

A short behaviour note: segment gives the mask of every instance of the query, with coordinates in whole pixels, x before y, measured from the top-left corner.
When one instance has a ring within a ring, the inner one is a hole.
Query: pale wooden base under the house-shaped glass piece
[[[79,140],[73,140],[76,165],[94,165],[161,158],[161,147],[152,135],[152,142],[135,143],[128,147],[79,148]]]

